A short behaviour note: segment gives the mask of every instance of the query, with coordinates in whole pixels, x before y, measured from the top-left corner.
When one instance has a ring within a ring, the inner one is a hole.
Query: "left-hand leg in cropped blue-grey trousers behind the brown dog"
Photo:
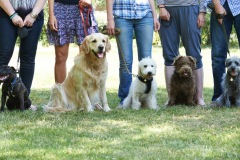
[[[177,27],[177,18],[176,18],[176,11],[175,7],[167,7],[171,15],[170,21],[163,21],[160,20],[161,29],[159,31],[159,36],[162,44],[163,49],[163,57],[164,57],[164,74],[165,74],[165,83],[166,83],[166,90],[168,93],[168,97],[170,94],[170,81],[172,74],[174,72],[174,66],[172,66],[174,58],[179,55],[179,42],[180,36]],[[166,102],[168,103],[168,101]]]

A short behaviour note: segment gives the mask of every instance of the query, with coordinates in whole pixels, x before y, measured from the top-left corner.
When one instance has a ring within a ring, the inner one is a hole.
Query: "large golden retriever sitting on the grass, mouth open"
[[[106,96],[106,78],[108,64],[106,52],[111,49],[107,35],[93,33],[87,36],[80,46],[80,54],[74,59],[74,65],[67,78],[61,84],[55,84],[50,100],[43,106],[45,112],[66,112],[86,109],[111,109]]]

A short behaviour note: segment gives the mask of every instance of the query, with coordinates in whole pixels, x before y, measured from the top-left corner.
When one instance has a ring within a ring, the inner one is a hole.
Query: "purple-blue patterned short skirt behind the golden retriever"
[[[58,23],[58,32],[47,27],[50,44],[62,46],[67,43],[81,44],[85,38],[84,27],[78,5],[54,3],[54,14]],[[92,26],[87,29],[88,34],[98,32],[98,24],[91,12]]]

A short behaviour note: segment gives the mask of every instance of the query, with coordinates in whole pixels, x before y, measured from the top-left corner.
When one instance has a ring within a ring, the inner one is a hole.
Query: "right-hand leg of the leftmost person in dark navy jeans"
[[[43,17],[42,19],[37,19],[28,32],[28,36],[20,40],[20,77],[29,94],[34,76],[35,57],[42,26]]]

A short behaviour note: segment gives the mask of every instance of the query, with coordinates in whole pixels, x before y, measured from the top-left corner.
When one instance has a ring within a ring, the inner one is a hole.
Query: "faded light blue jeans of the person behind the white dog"
[[[120,41],[119,53],[119,78],[120,84],[118,89],[118,97],[122,101],[127,97],[129,87],[132,83],[132,75],[125,69],[125,63],[122,59],[123,54],[126,61],[127,68],[132,72],[133,64],[133,32],[135,33],[138,61],[145,57],[151,57],[152,55],[152,41],[153,41],[153,16],[152,12],[149,12],[142,19],[123,19],[119,17],[114,18],[115,25],[121,30],[121,34],[118,36]]]

